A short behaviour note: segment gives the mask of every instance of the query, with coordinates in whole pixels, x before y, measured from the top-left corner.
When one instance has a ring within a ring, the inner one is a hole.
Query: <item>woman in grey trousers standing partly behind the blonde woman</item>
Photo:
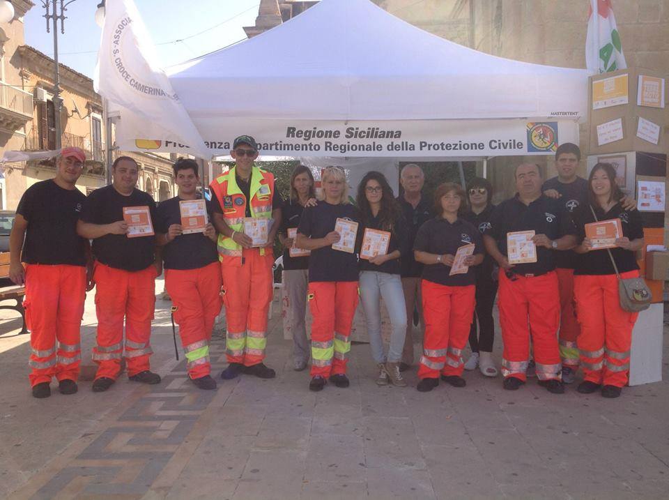
[[[302,211],[309,200],[316,198],[314,176],[309,167],[298,165],[291,175],[291,197],[281,207],[282,225],[279,241],[284,245],[282,285],[288,296],[286,327],[293,333],[293,368],[298,372],[307,368],[309,362],[309,340],[305,326],[307,312],[307,287],[309,285],[309,257],[291,257],[295,248],[296,230]]]

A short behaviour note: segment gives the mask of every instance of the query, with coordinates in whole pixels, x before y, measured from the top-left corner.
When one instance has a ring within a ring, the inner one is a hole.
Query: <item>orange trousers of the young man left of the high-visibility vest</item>
[[[221,282],[220,262],[197,269],[165,269],[165,289],[172,299],[191,379],[211,372],[209,341],[221,312]]]

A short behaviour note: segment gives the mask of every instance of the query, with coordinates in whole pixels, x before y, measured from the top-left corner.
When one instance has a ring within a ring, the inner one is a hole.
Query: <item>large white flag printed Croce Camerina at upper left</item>
[[[113,107],[126,108],[151,123],[160,123],[170,137],[186,144],[189,153],[210,158],[157,61],[155,47],[134,2],[107,0],[95,66],[95,90]]]

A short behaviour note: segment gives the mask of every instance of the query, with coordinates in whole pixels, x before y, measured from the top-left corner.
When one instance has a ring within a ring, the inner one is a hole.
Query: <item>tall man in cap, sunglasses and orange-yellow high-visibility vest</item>
[[[233,379],[243,372],[272,379],[276,373],[263,360],[273,291],[272,243],[281,224],[282,200],[274,176],[254,166],[258,147],[253,137],[237,137],[230,155],[235,166],[210,184],[228,326],[229,366],[221,377]],[[258,235],[247,231],[262,231],[263,224],[268,238],[259,245],[254,241]]]

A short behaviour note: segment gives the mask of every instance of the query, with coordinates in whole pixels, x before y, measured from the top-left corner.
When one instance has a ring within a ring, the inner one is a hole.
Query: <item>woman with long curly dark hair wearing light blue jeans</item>
[[[406,305],[399,275],[399,257],[406,251],[406,225],[392,188],[380,172],[368,172],[362,178],[356,201],[362,213],[364,229],[390,233],[385,253],[360,259],[360,300],[367,321],[371,354],[378,367],[376,384],[385,386],[390,381],[394,386],[404,387],[406,381],[399,372],[399,363],[406,335]],[[379,297],[383,297],[392,326],[387,354],[381,338]]]

